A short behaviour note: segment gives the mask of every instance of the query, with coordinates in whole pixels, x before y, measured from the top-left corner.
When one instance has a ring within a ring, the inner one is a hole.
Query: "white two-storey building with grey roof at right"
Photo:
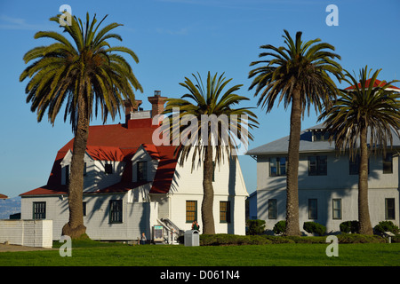
[[[327,232],[340,230],[340,223],[358,219],[358,165],[321,135],[323,125],[303,130],[299,151],[300,230],[304,222],[326,226]],[[400,140],[393,133],[394,145],[388,154],[369,159],[369,209],[372,226],[390,220],[399,225]],[[252,193],[252,218],[266,221],[272,230],[286,217],[286,161],[289,136],[247,152],[257,161],[257,190]],[[254,208],[256,206],[256,209]]]

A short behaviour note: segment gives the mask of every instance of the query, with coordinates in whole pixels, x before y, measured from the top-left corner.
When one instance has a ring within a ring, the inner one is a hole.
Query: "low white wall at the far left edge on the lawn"
[[[0,220],[0,242],[52,248],[52,220]]]

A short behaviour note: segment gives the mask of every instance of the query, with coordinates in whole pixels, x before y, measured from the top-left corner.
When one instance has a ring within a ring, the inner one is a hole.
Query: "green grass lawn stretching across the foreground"
[[[78,245],[72,256],[58,249],[0,253],[0,266],[398,266],[400,243],[340,244],[328,257],[328,244],[284,243],[243,246]]]

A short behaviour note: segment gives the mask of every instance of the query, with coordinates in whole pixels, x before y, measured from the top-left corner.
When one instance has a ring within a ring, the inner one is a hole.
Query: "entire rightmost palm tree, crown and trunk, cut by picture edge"
[[[368,209],[369,150],[386,153],[388,142],[393,144],[392,133],[399,136],[400,128],[400,94],[388,90],[390,84],[397,81],[381,83],[375,87],[379,73],[380,69],[376,70],[368,82],[371,70],[364,67],[360,70],[358,83],[355,76],[346,71],[344,80],[354,85],[354,88],[341,91],[340,98],[332,108],[325,109],[319,116],[319,120],[326,119],[325,131],[329,132],[339,152],[348,151],[353,161],[359,153],[358,221],[360,233],[364,234],[373,233]]]

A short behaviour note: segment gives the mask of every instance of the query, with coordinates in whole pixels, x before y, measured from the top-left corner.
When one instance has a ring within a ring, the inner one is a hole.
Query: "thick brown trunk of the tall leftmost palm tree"
[[[76,239],[86,232],[83,209],[84,153],[88,138],[89,116],[83,96],[79,97],[78,103],[78,120],[68,185],[69,221],[62,228],[62,234],[68,235],[72,239]]]

